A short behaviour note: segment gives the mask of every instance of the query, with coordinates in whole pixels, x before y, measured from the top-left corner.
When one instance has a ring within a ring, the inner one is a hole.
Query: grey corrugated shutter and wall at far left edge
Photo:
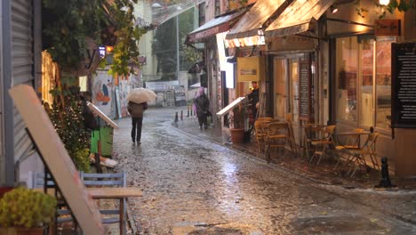
[[[8,93],[15,85],[41,83],[41,0],[2,1],[0,41],[0,182],[12,184],[40,165],[33,143]]]

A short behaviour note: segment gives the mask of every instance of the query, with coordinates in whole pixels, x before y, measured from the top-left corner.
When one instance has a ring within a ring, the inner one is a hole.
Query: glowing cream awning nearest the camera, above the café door
[[[265,36],[289,36],[306,32],[333,3],[334,0],[295,0],[266,28]]]

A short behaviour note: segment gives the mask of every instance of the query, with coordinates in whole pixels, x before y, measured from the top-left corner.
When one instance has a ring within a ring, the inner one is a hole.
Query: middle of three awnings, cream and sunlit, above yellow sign
[[[258,0],[247,13],[229,30],[227,39],[257,36],[267,27],[268,20],[284,11],[292,0]]]

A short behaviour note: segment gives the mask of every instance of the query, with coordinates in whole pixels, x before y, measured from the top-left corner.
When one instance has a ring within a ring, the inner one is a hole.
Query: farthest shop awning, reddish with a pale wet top
[[[204,23],[204,25],[188,34],[187,43],[197,43],[208,36],[215,36],[216,34],[228,31],[236,23],[236,20],[240,19],[244,12],[246,12],[246,9],[228,13],[227,15],[220,15]]]

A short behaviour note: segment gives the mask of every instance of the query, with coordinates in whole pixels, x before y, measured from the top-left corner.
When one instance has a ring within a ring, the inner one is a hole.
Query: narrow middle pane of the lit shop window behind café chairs
[[[360,99],[360,125],[372,126],[372,74],[374,72],[374,40],[361,40],[361,99]]]

